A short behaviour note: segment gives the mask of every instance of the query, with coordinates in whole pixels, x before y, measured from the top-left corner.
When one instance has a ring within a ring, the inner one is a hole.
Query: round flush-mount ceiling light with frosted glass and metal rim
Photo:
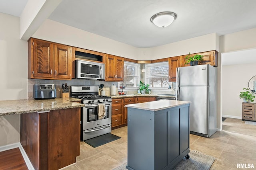
[[[158,27],[167,27],[175,19],[177,15],[174,12],[159,12],[150,18],[150,21]]]

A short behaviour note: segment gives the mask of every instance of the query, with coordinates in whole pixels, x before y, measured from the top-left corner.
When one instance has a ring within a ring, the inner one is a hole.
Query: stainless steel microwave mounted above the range
[[[76,78],[104,80],[105,64],[76,60]]]

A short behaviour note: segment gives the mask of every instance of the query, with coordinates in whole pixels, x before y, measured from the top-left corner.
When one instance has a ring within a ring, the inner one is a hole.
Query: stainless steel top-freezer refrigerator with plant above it
[[[217,68],[209,64],[177,68],[177,100],[190,101],[190,133],[217,131]]]

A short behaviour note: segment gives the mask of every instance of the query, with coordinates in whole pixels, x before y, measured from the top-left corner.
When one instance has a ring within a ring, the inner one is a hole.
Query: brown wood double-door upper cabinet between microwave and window
[[[124,81],[124,58],[106,55],[106,81]]]

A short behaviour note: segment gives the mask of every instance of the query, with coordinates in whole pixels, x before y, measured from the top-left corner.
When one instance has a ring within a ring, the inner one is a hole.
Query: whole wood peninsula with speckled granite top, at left
[[[35,170],[60,169],[80,155],[83,106],[62,98],[0,101],[0,115],[20,114],[20,143]]]

